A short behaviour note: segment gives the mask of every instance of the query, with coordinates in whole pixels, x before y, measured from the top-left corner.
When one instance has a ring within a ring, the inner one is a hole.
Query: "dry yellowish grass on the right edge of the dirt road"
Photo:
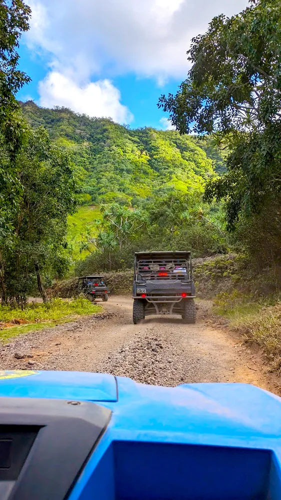
[[[272,371],[281,373],[281,299],[271,295],[254,301],[252,297],[241,296],[233,301],[226,296],[214,299],[213,312],[224,316],[230,328],[241,334],[247,343],[255,343],[266,355]]]

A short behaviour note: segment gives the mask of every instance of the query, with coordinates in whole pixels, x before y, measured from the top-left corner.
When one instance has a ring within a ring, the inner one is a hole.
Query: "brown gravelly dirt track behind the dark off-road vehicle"
[[[279,393],[259,353],[225,329],[211,326],[208,302],[199,301],[197,307],[195,325],[182,324],[177,316],[150,316],[133,325],[132,300],[114,296],[105,304],[103,317],[88,316],[17,337],[1,348],[0,366],[105,371],[165,385],[247,382]],[[16,359],[15,352],[24,358]]]

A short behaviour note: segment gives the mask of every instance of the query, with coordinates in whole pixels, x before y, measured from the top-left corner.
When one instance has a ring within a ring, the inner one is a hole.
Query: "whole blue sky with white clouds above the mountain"
[[[20,69],[32,82],[18,93],[45,107],[111,116],[132,127],[168,128],[157,109],[188,71],[186,50],[218,13],[247,0],[30,0]]]

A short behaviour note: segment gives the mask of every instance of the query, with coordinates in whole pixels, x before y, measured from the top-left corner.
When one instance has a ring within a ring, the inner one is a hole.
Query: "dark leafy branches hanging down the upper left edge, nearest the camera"
[[[17,47],[29,27],[30,13],[21,0],[0,0],[0,237],[6,237],[11,228],[10,211],[20,194],[16,155],[26,129],[15,93],[30,78],[17,68]]]

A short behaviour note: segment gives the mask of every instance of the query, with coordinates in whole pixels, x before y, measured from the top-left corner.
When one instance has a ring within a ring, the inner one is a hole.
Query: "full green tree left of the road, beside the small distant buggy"
[[[2,300],[24,300],[36,282],[46,301],[44,281],[61,276],[69,264],[66,221],[77,189],[68,155],[43,127],[27,128],[17,161],[22,192],[11,219],[14,233],[2,244]]]

